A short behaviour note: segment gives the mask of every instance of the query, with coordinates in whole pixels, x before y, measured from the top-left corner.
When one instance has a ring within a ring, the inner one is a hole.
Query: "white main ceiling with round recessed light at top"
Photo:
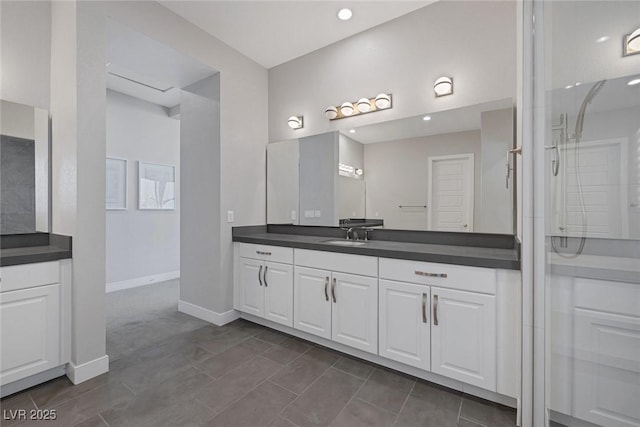
[[[265,68],[275,67],[433,2],[160,1]],[[338,10],[344,7],[353,11],[349,21],[337,18]]]

